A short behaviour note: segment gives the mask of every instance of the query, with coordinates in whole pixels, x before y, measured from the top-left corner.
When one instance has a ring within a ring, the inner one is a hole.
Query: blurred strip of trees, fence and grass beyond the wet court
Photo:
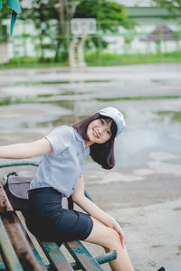
[[[8,67],[69,65],[72,18],[96,19],[84,46],[89,66],[180,61],[179,0],[22,0],[13,38],[3,3],[0,63]]]

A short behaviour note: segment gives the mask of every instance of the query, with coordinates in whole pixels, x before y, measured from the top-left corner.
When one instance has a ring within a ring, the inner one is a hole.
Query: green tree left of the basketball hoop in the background
[[[41,50],[42,61],[47,48],[55,51],[55,61],[58,61],[60,50],[66,51],[70,34],[67,22],[71,20],[78,3],[79,0],[32,0],[31,8],[23,8],[20,18],[33,20],[38,33],[34,39],[39,40],[37,49]],[[49,42],[46,37],[50,38]]]

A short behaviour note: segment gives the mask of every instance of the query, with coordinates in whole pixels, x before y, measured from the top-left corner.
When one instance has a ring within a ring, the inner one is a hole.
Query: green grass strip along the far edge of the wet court
[[[181,62],[181,51],[166,53],[137,53],[137,54],[111,54],[104,52],[85,53],[88,66],[115,66],[147,63],[173,63]],[[68,61],[54,62],[52,58],[41,61],[39,58],[21,57],[11,59],[8,63],[1,64],[1,69],[9,68],[34,68],[34,67],[66,67]]]

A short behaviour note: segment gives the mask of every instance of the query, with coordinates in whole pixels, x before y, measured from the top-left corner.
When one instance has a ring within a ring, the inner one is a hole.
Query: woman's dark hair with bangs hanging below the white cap
[[[100,114],[96,113],[95,115],[84,118],[81,120],[81,122],[74,124],[72,127],[77,130],[77,132],[82,136],[84,140],[89,141],[87,128],[90,122],[99,118],[111,119],[110,117],[101,116]],[[111,136],[107,142],[103,144],[94,143],[93,145],[90,145],[91,158],[105,169],[111,169],[115,165],[114,139],[117,133],[117,126],[114,121],[112,121],[110,131]]]

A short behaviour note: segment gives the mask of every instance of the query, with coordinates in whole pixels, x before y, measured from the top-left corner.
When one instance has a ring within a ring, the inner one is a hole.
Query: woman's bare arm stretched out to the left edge
[[[52,152],[52,145],[46,138],[32,143],[0,146],[0,158],[24,159]]]

